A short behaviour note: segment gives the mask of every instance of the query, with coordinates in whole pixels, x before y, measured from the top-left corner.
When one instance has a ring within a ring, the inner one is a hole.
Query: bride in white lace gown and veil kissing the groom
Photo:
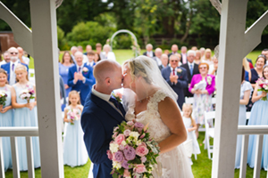
[[[150,137],[160,147],[154,177],[194,177],[181,144],[187,139],[187,131],[176,102],[177,94],[164,81],[156,62],[147,56],[125,61],[123,76],[126,120],[148,123]]]

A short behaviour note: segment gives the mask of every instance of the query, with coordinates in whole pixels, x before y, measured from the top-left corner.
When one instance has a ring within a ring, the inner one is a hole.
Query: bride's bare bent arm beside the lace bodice
[[[171,130],[172,135],[159,142],[160,152],[173,150],[187,139],[187,131],[180,115],[180,109],[171,98],[165,98],[158,104],[159,114],[163,123]]]

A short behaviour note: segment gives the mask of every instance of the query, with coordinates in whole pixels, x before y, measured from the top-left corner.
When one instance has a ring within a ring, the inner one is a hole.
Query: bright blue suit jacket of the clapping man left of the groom
[[[73,84],[74,73],[78,72],[76,65],[72,66],[69,69],[69,74],[68,74],[68,85],[71,87],[71,90],[76,90],[80,92],[80,101],[82,105],[84,105],[85,100],[88,96],[88,93],[90,93],[91,91],[92,85],[95,84],[95,77],[93,76],[93,69],[87,64],[84,64],[83,68],[88,68],[88,72],[82,71],[82,75],[86,78],[85,84],[81,80],[78,80],[76,84]]]

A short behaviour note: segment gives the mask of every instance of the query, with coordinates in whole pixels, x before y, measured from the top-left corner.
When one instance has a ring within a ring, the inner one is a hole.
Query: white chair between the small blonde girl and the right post
[[[213,145],[209,143],[209,139],[214,138],[214,118],[215,111],[205,112],[205,149],[207,149],[207,155],[210,159],[212,159],[211,154],[214,152]]]

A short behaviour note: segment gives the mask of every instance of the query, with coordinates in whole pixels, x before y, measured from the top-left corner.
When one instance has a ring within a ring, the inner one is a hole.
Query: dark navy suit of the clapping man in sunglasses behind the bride
[[[183,89],[188,87],[188,77],[187,77],[187,71],[184,68],[178,68],[181,69],[181,73],[178,73],[178,82],[177,84],[173,84],[170,80],[171,76],[171,67],[166,67],[162,69],[162,76],[165,79],[165,81],[172,87],[173,91],[178,94],[178,105],[180,106],[180,109],[182,109],[182,104],[184,103],[184,93]]]

